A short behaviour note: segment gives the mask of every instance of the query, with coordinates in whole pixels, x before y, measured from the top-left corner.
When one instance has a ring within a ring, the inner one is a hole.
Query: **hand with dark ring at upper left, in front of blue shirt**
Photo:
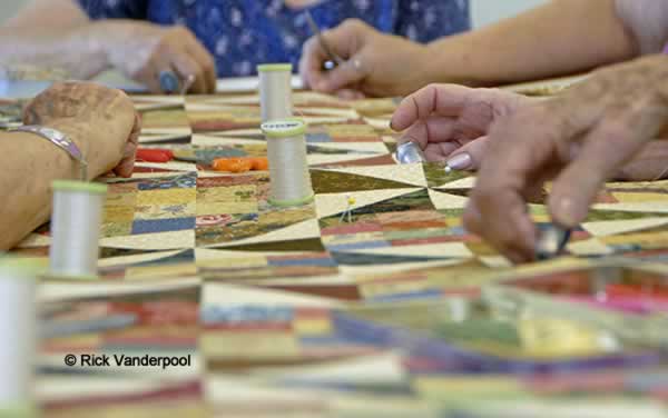
[[[174,71],[181,80],[193,76],[190,92],[216,91],[214,59],[188,29],[135,21],[92,24],[97,26],[100,37],[106,37],[104,43],[110,64],[151,92],[161,92],[161,71]]]

